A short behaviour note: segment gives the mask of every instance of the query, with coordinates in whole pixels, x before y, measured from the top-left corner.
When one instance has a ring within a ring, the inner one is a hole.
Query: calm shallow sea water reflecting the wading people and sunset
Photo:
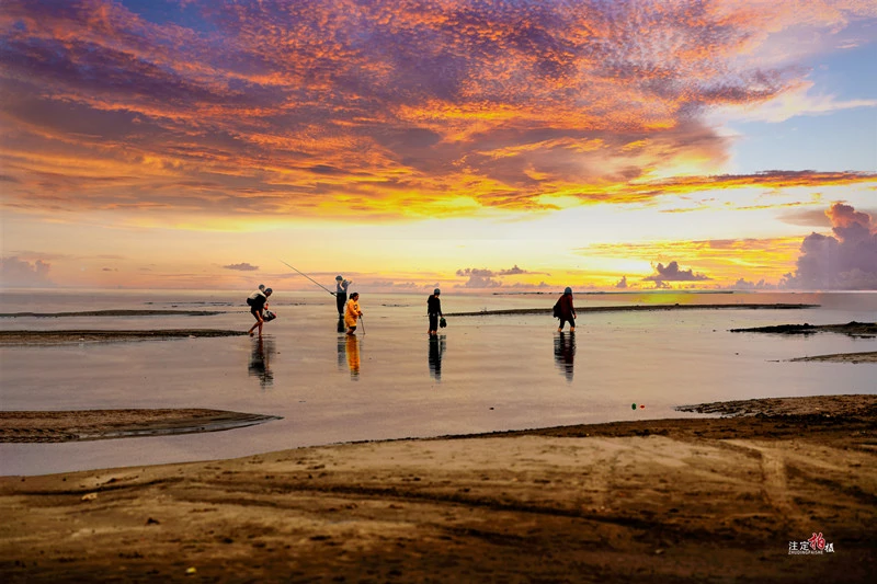
[[[248,290],[31,290],[0,312],[212,310],[205,317],[0,318],[2,330],[236,329]],[[877,365],[789,363],[877,351],[877,340],[730,333],[770,324],[877,320],[877,294],[577,295],[577,307],[817,304],[805,310],[448,317],[426,335],[425,295],[361,291],[364,325],[338,332],[327,293],[277,291],[262,340],[248,336],[0,347],[0,410],[207,408],[282,416],[208,434],[0,445],[0,474],[230,458],[351,440],[684,417],[676,405],[764,397],[875,393]],[[556,295],[446,290],[446,313],[549,308]],[[636,403],[637,408],[631,409]],[[640,408],[645,405],[645,408]]]

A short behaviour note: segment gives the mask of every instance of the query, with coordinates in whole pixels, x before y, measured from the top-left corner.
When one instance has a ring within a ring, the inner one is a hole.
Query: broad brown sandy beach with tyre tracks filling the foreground
[[[869,582],[877,398],[701,408],[748,415],[4,477],[0,579]]]

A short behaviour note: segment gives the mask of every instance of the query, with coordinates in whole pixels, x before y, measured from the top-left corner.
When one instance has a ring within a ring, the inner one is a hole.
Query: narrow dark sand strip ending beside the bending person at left
[[[138,331],[0,331],[0,346],[242,336],[246,334],[247,333],[243,331],[217,329],[155,329]]]

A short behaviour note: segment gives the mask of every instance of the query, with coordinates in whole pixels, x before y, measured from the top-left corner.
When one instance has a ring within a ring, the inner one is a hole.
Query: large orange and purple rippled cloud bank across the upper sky
[[[7,0],[5,204],[406,218],[874,182],[714,175],[716,105],[805,72],[749,58],[867,2]],[[150,20],[151,19],[151,20]],[[691,168],[695,176],[657,180]],[[547,197],[547,198],[546,198]]]

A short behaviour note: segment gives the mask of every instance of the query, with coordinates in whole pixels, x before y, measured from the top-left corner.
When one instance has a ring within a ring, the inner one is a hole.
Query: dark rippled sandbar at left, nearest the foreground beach
[[[82,442],[219,432],[272,420],[281,417],[202,409],[0,412],[0,443]]]

